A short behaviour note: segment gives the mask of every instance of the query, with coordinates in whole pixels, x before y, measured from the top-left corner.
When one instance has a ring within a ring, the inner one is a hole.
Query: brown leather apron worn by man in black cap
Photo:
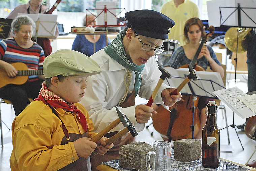
[[[135,92],[133,91],[130,94],[127,94],[125,101],[119,105],[122,108],[130,107],[135,105]],[[111,136],[115,135],[117,132],[110,132],[105,135],[105,137],[110,138]],[[95,155],[91,157],[91,167],[92,171],[97,171],[96,167],[101,164],[101,162],[117,160],[119,159],[119,150],[122,145],[130,144],[135,142],[135,137],[131,135],[131,133],[127,133],[118,140],[116,140],[113,144],[114,147],[109,149],[107,153],[104,155]]]

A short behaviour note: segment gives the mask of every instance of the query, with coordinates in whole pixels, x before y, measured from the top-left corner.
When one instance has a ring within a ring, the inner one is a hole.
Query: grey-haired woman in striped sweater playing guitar
[[[22,62],[31,71],[42,70],[44,51],[41,46],[31,40],[36,27],[35,22],[28,16],[18,16],[13,20],[11,27],[15,37],[0,42],[0,68],[3,68],[10,78],[18,74],[18,70],[11,65],[12,63]],[[19,85],[19,81],[17,84],[7,84],[0,88],[0,97],[12,102],[15,115],[18,116],[30,103],[29,98],[38,97],[44,79],[41,73],[41,75],[29,76],[27,82],[22,85]]]

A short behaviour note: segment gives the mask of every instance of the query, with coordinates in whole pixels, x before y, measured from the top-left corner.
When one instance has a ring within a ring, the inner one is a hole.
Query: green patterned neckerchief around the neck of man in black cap
[[[122,40],[123,31],[121,31],[116,38],[106,47],[104,47],[104,51],[113,59],[115,59],[118,63],[122,66],[132,70],[135,72],[135,83],[134,83],[134,90],[135,96],[137,96],[140,88],[141,83],[141,73],[144,69],[145,64],[142,65],[135,65],[131,63],[124,51],[124,45]]]

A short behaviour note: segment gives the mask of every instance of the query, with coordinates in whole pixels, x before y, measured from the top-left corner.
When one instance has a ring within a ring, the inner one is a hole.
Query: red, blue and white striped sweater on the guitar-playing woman
[[[28,49],[20,47],[13,37],[4,39],[0,42],[0,59],[8,62],[22,62],[28,70],[43,69],[44,51],[36,42]],[[38,80],[37,75],[29,76],[28,81]]]

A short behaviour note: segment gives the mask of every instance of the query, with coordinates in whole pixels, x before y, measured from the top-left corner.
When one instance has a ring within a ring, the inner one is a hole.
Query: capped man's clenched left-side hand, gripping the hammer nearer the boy
[[[135,117],[137,123],[143,124],[148,123],[148,120],[152,115],[155,115],[156,111],[153,107],[149,107],[147,105],[138,105],[135,108]]]

